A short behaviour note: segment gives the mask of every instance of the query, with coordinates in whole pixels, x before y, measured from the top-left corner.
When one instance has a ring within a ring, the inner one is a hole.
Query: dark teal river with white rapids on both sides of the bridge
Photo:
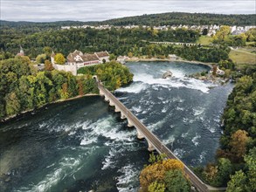
[[[115,91],[187,165],[214,160],[232,84],[185,75],[208,69],[175,62],[128,63],[134,82]],[[175,76],[162,79],[170,70]],[[52,104],[0,125],[0,191],[137,191],[144,140],[100,96]]]

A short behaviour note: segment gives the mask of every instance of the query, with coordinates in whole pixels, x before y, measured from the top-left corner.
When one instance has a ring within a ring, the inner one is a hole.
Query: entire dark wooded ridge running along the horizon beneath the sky
[[[24,29],[26,27],[38,27],[40,29],[49,28],[60,28],[60,26],[68,25],[199,25],[199,24],[218,24],[218,25],[256,25],[256,14],[251,15],[224,15],[224,14],[210,14],[210,13],[183,13],[183,12],[170,12],[161,14],[150,14],[135,17],[121,17],[109,19],[102,22],[91,21],[91,22],[81,22],[81,21],[57,21],[57,22],[10,22],[0,20],[0,27],[14,27]]]

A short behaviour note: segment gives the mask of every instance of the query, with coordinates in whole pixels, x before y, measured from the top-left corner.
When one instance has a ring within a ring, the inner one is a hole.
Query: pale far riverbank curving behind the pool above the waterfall
[[[172,59],[172,58],[137,58],[137,57],[132,57],[132,58],[127,58],[127,62],[140,62],[140,61],[147,61],[147,62],[154,62],[154,61],[167,61],[167,62],[185,62],[185,63],[190,63],[190,64],[198,64],[198,65],[206,65],[212,68],[212,65],[216,65],[215,63],[204,63],[201,61],[190,61],[190,60],[185,60],[183,58],[178,58],[178,59]]]

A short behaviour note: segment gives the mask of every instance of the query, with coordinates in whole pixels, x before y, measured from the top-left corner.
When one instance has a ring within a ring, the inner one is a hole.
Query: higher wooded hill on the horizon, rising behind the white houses
[[[90,22],[90,24],[111,24],[111,25],[256,25],[256,14],[251,15],[224,15],[209,13],[183,13],[170,12],[161,14],[150,14],[135,17],[122,17],[106,20],[103,22]]]

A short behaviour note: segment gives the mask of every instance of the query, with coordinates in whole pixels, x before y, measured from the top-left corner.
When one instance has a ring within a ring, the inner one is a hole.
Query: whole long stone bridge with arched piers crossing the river
[[[159,154],[166,154],[167,158],[176,159],[181,161],[175,154],[173,154],[168,147],[166,147],[162,141],[160,141],[155,134],[149,131],[140,120],[138,120],[133,113],[131,113],[126,106],[124,106],[119,99],[116,99],[112,93],[110,93],[96,78],[100,95],[105,97],[105,100],[109,102],[110,106],[115,107],[115,112],[121,113],[121,119],[128,120],[128,127],[135,127],[137,130],[138,139],[145,138],[149,144],[149,151],[156,151]],[[184,163],[183,163],[184,164]],[[197,189],[197,191],[211,191],[221,190],[221,188],[213,188],[202,182],[197,175],[195,175],[190,168],[184,164],[184,171],[189,176],[191,184]]]

